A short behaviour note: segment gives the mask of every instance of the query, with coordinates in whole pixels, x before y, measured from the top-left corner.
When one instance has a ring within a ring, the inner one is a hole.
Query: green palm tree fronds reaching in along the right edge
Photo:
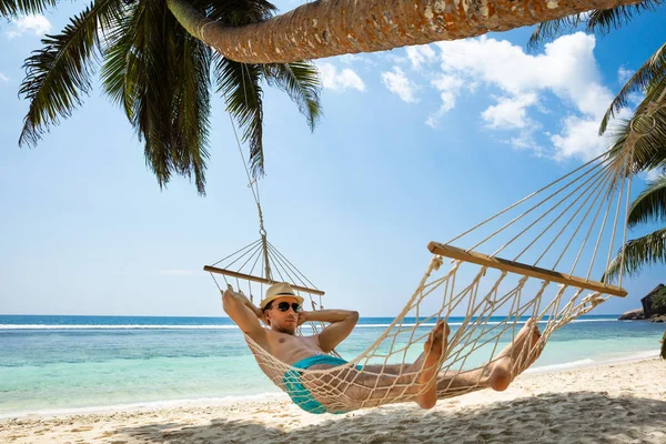
[[[610,10],[594,10],[541,23],[534,31],[529,46],[584,26],[588,32],[605,34],[632,20],[635,13],[654,11],[662,0],[646,0],[635,6],[620,6]],[[629,105],[633,93],[644,94],[630,119],[609,122]],[[599,134],[607,134],[613,155],[630,153],[630,173],[666,167],[666,43],[632,75],[609,104],[599,125]],[[627,214],[627,228],[646,222],[666,222],[666,175],[647,184],[636,198]],[[623,260],[624,255],[624,260]],[[635,274],[646,265],[666,262],[666,228],[638,239],[629,240],[613,260],[604,280],[619,273]],[[620,271],[622,268],[622,271]]]

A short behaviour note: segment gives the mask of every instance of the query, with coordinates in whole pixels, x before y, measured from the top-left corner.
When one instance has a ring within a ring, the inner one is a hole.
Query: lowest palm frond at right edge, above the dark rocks
[[[644,266],[666,261],[666,229],[654,231],[647,235],[628,241],[613,259],[602,282],[610,282],[620,274],[620,262],[624,255],[622,273],[635,275]]]

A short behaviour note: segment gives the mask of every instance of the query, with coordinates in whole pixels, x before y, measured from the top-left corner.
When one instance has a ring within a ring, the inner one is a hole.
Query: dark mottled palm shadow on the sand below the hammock
[[[128,443],[666,443],[666,401],[547,393],[456,411],[391,407],[283,431],[231,418],[123,427]]]

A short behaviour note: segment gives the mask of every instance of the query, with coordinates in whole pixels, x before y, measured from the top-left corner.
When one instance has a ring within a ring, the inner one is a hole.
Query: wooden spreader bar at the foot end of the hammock
[[[474,251],[465,251],[456,246],[445,245],[438,242],[431,242],[427,249],[434,253],[446,258],[456,259],[464,262],[472,262],[483,266],[506,271],[509,273],[522,274],[529,278],[543,279],[544,281],[557,282],[558,284],[576,286],[595,292],[612,294],[614,296],[624,297],[627,292],[624,289],[615,285],[608,285],[597,281],[587,281],[576,276],[568,276],[556,271],[542,269],[538,266],[526,265],[519,262],[508,261],[501,258],[491,258],[486,254],[476,253]]]

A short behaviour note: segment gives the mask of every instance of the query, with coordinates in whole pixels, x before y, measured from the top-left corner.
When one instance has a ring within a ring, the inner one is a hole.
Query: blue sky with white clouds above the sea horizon
[[[220,98],[205,198],[186,179],[160,190],[97,84],[37,148],[18,147],[22,62],[81,6],[0,24],[0,313],[223,315],[202,266],[256,240],[259,226]],[[664,42],[664,18],[534,52],[532,30],[519,29],[321,60],[324,117],[314,133],[285,94],[266,89],[260,190],[270,241],[326,291],[326,306],[397,313],[430,241],[602,152],[601,114]],[[627,280],[629,296],[595,313],[639,306],[664,270]]]

